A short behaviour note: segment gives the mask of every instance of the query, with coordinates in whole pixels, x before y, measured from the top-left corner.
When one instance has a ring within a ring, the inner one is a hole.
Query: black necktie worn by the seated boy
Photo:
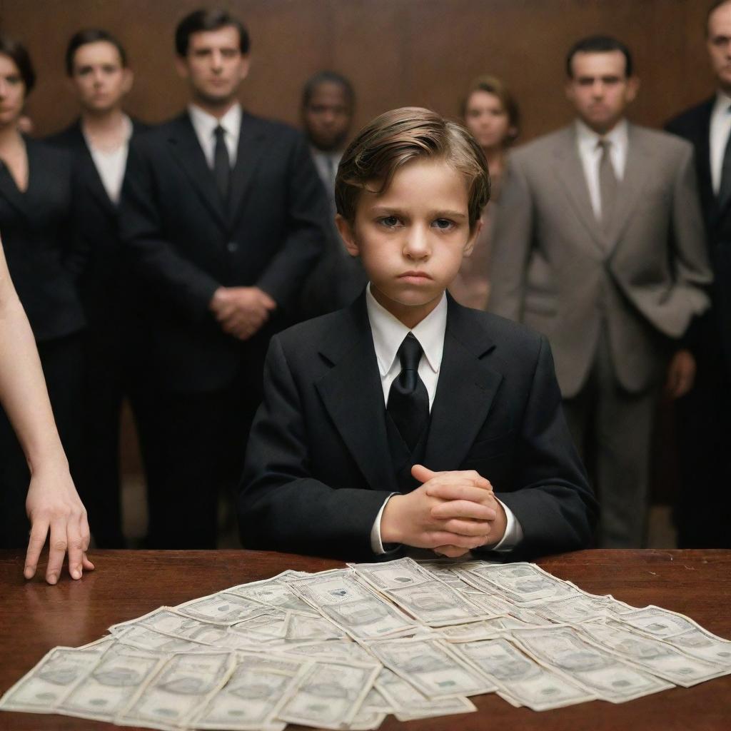
[[[386,406],[404,442],[412,451],[429,419],[429,395],[419,377],[421,354],[419,341],[413,333],[409,333],[398,348],[401,373],[391,384]]]

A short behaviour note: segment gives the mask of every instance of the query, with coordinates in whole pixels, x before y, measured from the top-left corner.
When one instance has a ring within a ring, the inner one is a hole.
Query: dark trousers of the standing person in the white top
[[[148,481],[156,479],[155,400],[145,349],[135,338],[90,331],[86,337],[84,383],[84,465],[78,485],[97,548],[124,548],[121,512],[120,425],[124,398],[135,417]],[[156,467],[159,465],[159,467]]]

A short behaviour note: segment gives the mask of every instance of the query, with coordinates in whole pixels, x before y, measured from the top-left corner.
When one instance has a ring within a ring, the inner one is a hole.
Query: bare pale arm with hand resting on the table
[[[94,569],[86,557],[89,526],[86,510],[69,474],[58,438],[36,343],[18,300],[0,244],[0,402],[23,447],[31,472],[26,512],[31,535],[24,575],[30,579],[50,534],[46,580],[55,584],[66,553],[69,573],[79,579]]]

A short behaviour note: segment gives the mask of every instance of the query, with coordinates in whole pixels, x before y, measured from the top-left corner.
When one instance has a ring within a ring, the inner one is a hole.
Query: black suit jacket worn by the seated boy
[[[238,512],[246,548],[373,557],[398,492],[365,295],[275,336]],[[429,469],[474,469],[523,528],[515,556],[586,546],[597,506],[561,410],[548,341],[449,300],[425,449]]]

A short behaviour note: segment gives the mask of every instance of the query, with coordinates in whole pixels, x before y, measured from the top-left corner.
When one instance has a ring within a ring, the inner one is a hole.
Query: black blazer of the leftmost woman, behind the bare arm
[[[25,138],[29,183],[20,192],[0,163],[0,236],[8,269],[37,341],[85,325],[73,272],[81,251],[73,235],[75,194],[66,151]]]

